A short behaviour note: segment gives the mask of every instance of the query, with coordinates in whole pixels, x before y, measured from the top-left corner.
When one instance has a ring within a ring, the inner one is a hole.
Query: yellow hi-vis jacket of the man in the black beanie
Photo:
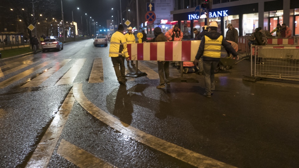
[[[124,56],[125,58],[129,57],[126,37],[120,31],[116,31],[111,36],[110,48],[109,48],[109,57],[118,57],[118,56]]]

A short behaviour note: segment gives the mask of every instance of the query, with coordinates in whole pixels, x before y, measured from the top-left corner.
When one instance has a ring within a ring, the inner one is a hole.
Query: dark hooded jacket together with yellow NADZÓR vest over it
[[[234,48],[216,30],[211,30],[202,37],[195,58],[198,60],[203,56],[204,61],[219,61],[221,55],[221,45],[234,57],[238,56]]]

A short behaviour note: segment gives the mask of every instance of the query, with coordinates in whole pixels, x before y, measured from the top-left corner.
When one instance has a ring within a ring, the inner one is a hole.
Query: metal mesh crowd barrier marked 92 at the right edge
[[[251,45],[251,76],[299,81],[299,45]]]

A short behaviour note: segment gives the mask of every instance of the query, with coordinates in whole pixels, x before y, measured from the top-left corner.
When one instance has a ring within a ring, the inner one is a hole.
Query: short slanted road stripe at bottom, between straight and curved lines
[[[68,141],[62,139],[57,150],[57,153],[71,161],[78,167],[84,168],[94,168],[94,167],[105,167],[105,168],[112,168],[115,167],[102,159],[97,158],[96,156],[84,151],[83,149],[69,143]],[[117,167],[115,167],[117,168]]]

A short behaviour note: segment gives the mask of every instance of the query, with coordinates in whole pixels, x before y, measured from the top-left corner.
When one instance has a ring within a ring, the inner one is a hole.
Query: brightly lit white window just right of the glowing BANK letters
[[[251,35],[259,26],[259,13],[244,14],[242,25],[242,35]]]

